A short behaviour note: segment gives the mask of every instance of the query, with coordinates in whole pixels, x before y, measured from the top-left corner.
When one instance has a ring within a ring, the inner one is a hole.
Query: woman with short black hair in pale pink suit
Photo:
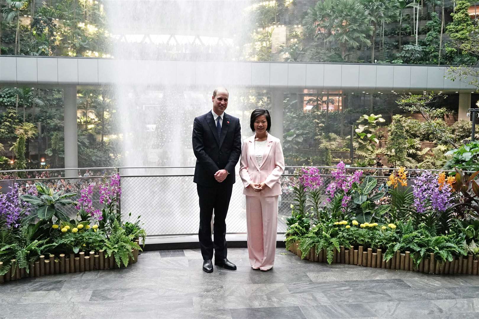
[[[279,178],[285,171],[285,158],[279,139],[268,133],[271,117],[267,110],[254,110],[250,127],[255,134],[243,142],[239,176],[245,187],[251,268],[266,271],[274,264]]]

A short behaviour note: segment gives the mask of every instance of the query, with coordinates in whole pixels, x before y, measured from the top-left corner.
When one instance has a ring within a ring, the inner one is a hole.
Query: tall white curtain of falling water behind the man
[[[207,61],[213,62],[212,66],[215,62],[238,61],[251,31],[247,7],[252,3],[242,0],[106,1],[113,56],[119,61],[113,89],[121,116],[125,166],[194,166],[193,119],[211,110],[213,89],[232,83],[228,77],[237,75],[224,69],[221,74],[215,74],[214,85],[192,86],[178,78],[174,85],[154,86],[152,83],[161,82],[157,81],[160,75],[151,71],[155,62],[142,60]],[[138,60],[137,67],[122,67],[122,60]],[[244,110],[239,103],[239,97],[246,95],[245,89],[228,86],[228,90],[227,112],[239,117],[242,126],[247,128],[245,114],[249,117],[251,110]],[[125,174],[193,174],[193,170],[129,169],[122,172]],[[183,233],[186,229],[195,232],[198,209],[192,185],[192,177],[125,178],[122,210],[132,214],[141,212],[142,220],[148,220],[150,234]],[[242,202],[240,198],[233,198],[232,205],[235,200]],[[148,205],[147,211],[145,205]],[[171,215],[168,225],[155,216],[159,211]],[[194,220],[185,228],[185,218],[193,215]]]

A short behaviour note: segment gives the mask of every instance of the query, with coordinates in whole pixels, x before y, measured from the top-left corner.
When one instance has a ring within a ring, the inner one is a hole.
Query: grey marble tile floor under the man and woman
[[[479,318],[479,276],[425,275],[301,261],[284,248],[272,270],[201,270],[199,250],[154,251],[127,269],[0,286],[0,318]]]

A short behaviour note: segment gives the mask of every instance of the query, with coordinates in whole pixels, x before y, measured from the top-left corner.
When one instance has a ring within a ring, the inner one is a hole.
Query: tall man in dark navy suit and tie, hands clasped
[[[213,272],[215,265],[236,269],[229,262],[226,244],[226,214],[235,183],[235,165],[241,155],[241,127],[239,119],[226,114],[228,90],[213,92],[213,110],[198,116],[193,123],[193,151],[196,156],[194,183],[200,199],[200,240],[203,270]],[[211,217],[215,210],[214,241],[211,241]]]

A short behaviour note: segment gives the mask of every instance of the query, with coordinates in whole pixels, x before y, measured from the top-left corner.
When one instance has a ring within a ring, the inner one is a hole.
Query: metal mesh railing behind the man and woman
[[[29,187],[33,187],[35,181],[41,181],[46,184],[46,186],[53,187],[57,190],[80,193],[81,188],[93,184],[95,185],[92,198],[93,205],[95,208],[102,208],[103,205],[99,203],[99,185],[104,178],[109,178],[109,176],[101,175],[105,172],[119,171],[122,187],[120,204],[124,218],[127,218],[129,213],[132,215],[132,220],[136,220],[137,216],[141,215],[141,220],[145,223],[144,227],[148,235],[196,234],[199,225],[199,206],[196,184],[193,183],[193,175],[178,174],[180,170],[173,167],[148,169],[151,171],[146,172],[145,169],[143,169],[142,174],[138,175],[127,175],[125,173],[137,173],[137,171],[131,167],[120,167],[114,169],[90,169],[90,172],[94,170],[94,173],[91,174],[92,176],[57,176],[0,180],[0,186],[3,187],[0,191],[5,192],[13,183],[18,183],[22,192],[27,193]],[[191,167],[185,167],[185,169],[192,171]],[[185,171],[185,169],[181,171]],[[334,179],[330,175],[332,169],[334,168],[321,167],[321,176],[323,178],[323,186],[320,188],[320,192],[323,194],[321,201],[326,201],[326,187],[328,187]],[[350,172],[355,169],[357,168],[347,168]],[[291,167],[289,172],[292,173],[293,170],[294,167]],[[388,170],[386,174],[388,174]],[[153,175],[151,172],[156,174]],[[158,174],[164,172],[174,172],[176,175]],[[380,172],[378,169],[365,169],[365,174],[377,175],[378,172]],[[387,176],[375,176],[375,178],[378,180],[376,188],[385,187],[388,179]],[[414,179],[414,176],[409,176],[408,179]],[[294,199],[292,186],[296,184],[296,182],[294,175],[286,174],[281,177],[283,195],[279,198],[278,207],[279,233],[285,232],[286,230],[284,217],[291,215],[290,205]],[[409,183],[409,185],[411,184],[412,183]],[[74,197],[74,199],[78,198],[79,196]],[[77,210],[73,206],[63,207],[62,209],[69,216],[74,216],[77,213]],[[246,232],[246,202],[245,196],[243,195],[243,184],[239,176],[236,176],[236,183],[233,187],[226,222],[228,233]]]

